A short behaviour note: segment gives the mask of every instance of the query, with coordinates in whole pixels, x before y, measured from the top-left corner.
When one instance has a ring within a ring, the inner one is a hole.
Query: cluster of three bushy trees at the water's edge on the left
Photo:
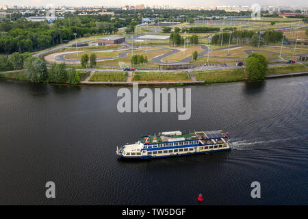
[[[39,57],[30,56],[24,63],[27,79],[32,82],[55,82],[77,84],[80,81],[80,75],[73,66],[66,68],[66,65],[51,63],[47,70],[46,63]]]

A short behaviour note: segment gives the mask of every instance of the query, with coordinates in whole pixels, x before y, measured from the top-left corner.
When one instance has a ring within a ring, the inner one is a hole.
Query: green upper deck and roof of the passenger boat
[[[222,130],[217,131],[195,131],[193,133],[181,133],[181,131],[168,131],[158,135],[143,136],[140,142],[144,144],[177,142],[184,140],[198,140],[207,138],[226,138],[226,133]]]

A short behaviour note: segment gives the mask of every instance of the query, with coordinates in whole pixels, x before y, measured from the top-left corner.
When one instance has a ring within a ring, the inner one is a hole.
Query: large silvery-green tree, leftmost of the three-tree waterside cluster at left
[[[28,57],[24,62],[27,79],[32,82],[40,83],[46,81],[47,66],[39,57]]]

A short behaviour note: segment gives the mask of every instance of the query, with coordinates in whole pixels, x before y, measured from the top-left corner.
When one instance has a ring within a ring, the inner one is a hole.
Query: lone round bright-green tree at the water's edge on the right
[[[246,67],[249,81],[263,80],[268,74],[268,60],[261,54],[248,55]]]

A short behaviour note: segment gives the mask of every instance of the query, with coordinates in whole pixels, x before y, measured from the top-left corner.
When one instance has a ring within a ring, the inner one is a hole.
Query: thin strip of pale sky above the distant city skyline
[[[300,5],[308,6],[306,0],[1,0],[0,5],[47,5],[56,6],[121,6],[121,5],[172,5],[172,6],[216,6],[216,5]]]

